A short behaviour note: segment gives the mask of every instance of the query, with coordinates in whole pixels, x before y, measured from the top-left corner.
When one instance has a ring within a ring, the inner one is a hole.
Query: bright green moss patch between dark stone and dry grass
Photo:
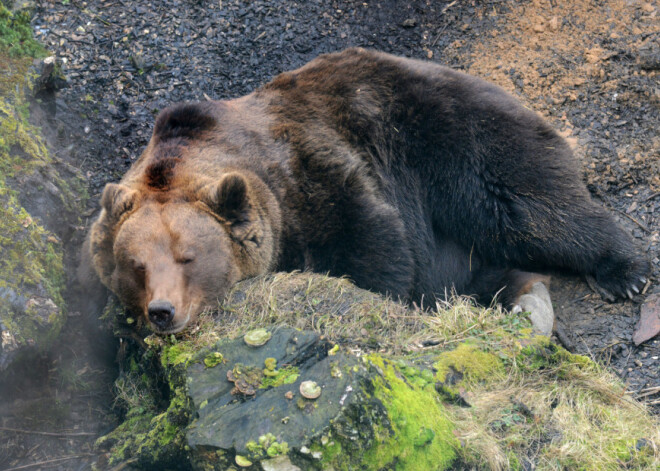
[[[366,469],[448,469],[458,442],[438,395],[408,383],[392,362],[376,354],[368,359],[384,375],[374,380],[374,396],[385,406],[391,430],[382,429],[364,454]]]

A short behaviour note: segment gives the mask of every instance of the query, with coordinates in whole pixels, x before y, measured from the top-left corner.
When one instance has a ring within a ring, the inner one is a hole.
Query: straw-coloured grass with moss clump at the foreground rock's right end
[[[497,349],[501,365],[483,358],[477,377],[484,380],[460,383],[471,407],[448,406],[465,444],[459,450],[463,461],[520,469],[537,447],[539,470],[660,464],[657,449],[637,446],[658,443],[657,420],[626,397],[620,381],[603,367],[544,336],[512,333],[489,348]],[[496,373],[488,374],[493,367]]]

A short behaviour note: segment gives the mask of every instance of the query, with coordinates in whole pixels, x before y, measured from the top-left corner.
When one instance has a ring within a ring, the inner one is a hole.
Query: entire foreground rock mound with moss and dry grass
[[[309,273],[241,282],[187,332],[145,339],[99,445],[140,469],[657,469],[657,419],[606,369],[523,314],[440,307]],[[263,346],[244,341],[255,328]]]

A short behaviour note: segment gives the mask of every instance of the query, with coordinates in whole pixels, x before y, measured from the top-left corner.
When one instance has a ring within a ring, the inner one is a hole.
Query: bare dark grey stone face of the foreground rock
[[[346,354],[328,356],[330,348],[317,334],[288,328],[275,331],[261,349],[240,341],[225,344],[222,350],[228,370],[236,365],[263,365],[267,358],[275,358],[279,365],[295,365],[300,371],[293,384],[257,389],[254,399],[247,402],[235,400],[231,384],[222,381],[222,370],[191,364],[186,371],[186,383],[194,415],[198,415],[186,432],[192,454],[197,449],[234,449],[239,455],[258,458],[269,456],[268,450],[273,454],[273,443],[300,449],[320,440],[320,432],[330,428],[331,423],[352,422],[354,418],[348,419],[346,415],[357,410],[366,413],[361,391],[369,382],[369,365]],[[333,365],[339,365],[346,374],[342,378],[332,377]],[[297,391],[304,383],[302,378],[307,381],[311,378],[323,388],[321,399],[309,402],[300,396],[300,401],[286,399],[284,389]],[[386,420],[382,406],[380,412],[375,410],[371,414],[376,420]],[[284,418],[288,420],[283,421]],[[274,437],[271,443],[264,439],[260,443],[260,438],[267,434]],[[199,461],[200,457],[196,459]]]

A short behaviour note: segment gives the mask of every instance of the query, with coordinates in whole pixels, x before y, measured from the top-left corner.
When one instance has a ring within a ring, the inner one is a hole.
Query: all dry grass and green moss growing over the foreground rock
[[[318,301],[321,313],[305,310],[310,305],[307,295]],[[222,323],[201,316],[193,333],[158,339],[159,349],[176,346],[165,351],[167,371],[202,362],[226,337],[263,325],[289,324],[318,330],[340,345],[349,344],[356,335],[360,340],[355,343],[363,346],[362,358],[367,360],[340,370],[339,376],[355,375],[365,366],[378,372],[378,379],[353,392],[364,397],[354,412],[351,409],[327,430],[318,430],[320,437],[310,437],[311,453],[295,455],[295,460],[308,460],[310,469],[443,469],[457,463],[475,469],[523,469],[533,463],[539,470],[658,469],[660,465],[657,419],[628,397],[621,382],[604,367],[546,337],[533,336],[524,316],[478,308],[462,299],[440,306],[446,310],[428,313],[363,292],[344,280],[314,274],[275,274],[242,282],[229,300],[236,310],[224,311]],[[361,317],[374,306],[383,310],[380,316]],[[341,313],[341,325],[326,312]],[[368,336],[361,332],[367,324],[375,329]],[[369,354],[372,343],[364,342],[366,338],[375,339],[384,352]],[[429,339],[439,346],[419,347]],[[263,366],[253,367],[263,373],[257,386],[284,378],[288,368],[278,370],[273,359]],[[462,406],[443,401],[436,390],[442,382],[464,400]],[[172,397],[183,398],[183,392],[176,392],[177,384],[184,381],[170,381]],[[311,401],[300,401],[301,409],[314,413],[308,407]],[[292,404],[295,409],[295,401]],[[182,402],[177,409],[187,407]],[[207,403],[208,407],[212,406]],[[167,410],[164,416],[162,408],[149,410],[147,424],[159,427],[164,442],[179,444],[168,424],[185,424],[186,415]],[[361,437],[373,434],[366,442],[368,449],[360,448],[364,442],[346,439],[342,435],[346,430],[358,430]],[[144,434],[140,440],[148,432]],[[271,445],[264,447],[255,438],[241,452],[258,466],[257,460],[269,456]],[[200,469],[236,467],[233,452],[225,452],[217,458],[215,450],[195,450],[193,459]],[[274,446],[270,454],[277,453],[284,454]],[[201,457],[210,461],[202,463]],[[224,460],[221,467],[213,461],[219,459]]]

